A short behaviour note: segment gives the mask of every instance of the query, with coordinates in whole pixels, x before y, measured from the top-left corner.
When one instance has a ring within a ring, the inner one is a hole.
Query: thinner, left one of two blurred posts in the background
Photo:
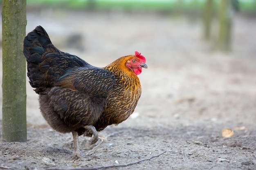
[[[209,40],[211,35],[211,20],[213,12],[213,0],[206,0],[203,13],[204,39]]]

